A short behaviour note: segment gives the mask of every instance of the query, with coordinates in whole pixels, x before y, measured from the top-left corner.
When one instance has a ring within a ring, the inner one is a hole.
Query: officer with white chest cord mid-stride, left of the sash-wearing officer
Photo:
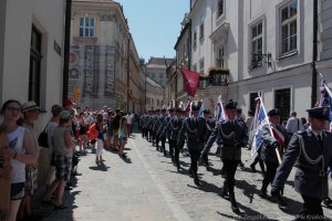
[[[224,119],[216,124],[205,148],[208,148],[212,143],[219,138],[222,146],[220,148],[221,160],[224,164],[225,181],[221,191],[222,198],[228,198],[231,202],[231,210],[235,213],[239,213],[237,201],[235,199],[234,186],[235,173],[239,160],[241,159],[241,147],[245,147],[248,143],[247,126],[243,120],[237,119],[237,103],[230,99],[225,105],[225,113],[228,119]]]

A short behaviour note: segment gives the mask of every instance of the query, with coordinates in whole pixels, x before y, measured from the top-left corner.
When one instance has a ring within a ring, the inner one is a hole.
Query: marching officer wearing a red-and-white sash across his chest
[[[277,151],[280,152],[282,148],[288,146],[289,138],[287,130],[280,125],[279,109],[271,109],[268,112],[270,125],[262,127],[262,147],[260,157],[267,166],[267,172],[263,176],[260,197],[268,198],[267,188],[273,181],[277,168],[279,166]],[[271,135],[272,133],[272,135]],[[280,204],[284,204],[282,198],[279,199]]]

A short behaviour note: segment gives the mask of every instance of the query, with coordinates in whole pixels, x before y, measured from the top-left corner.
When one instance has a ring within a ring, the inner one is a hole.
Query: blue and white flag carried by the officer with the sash
[[[255,134],[253,134],[253,140],[251,145],[251,157],[253,157],[253,155],[259,150],[259,148],[261,148],[261,145],[263,143],[262,127],[264,125],[269,125],[269,118],[261,97],[257,98],[257,106],[256,106],[255,118],[252,124],[253,124],[252,129]],[[271,135],[273,136],[273,133],[271,133]]]

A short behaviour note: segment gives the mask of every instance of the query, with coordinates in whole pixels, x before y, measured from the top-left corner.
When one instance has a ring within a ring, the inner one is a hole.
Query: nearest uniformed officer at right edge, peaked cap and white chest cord
[[[328,185],[326,170],[332,161],[332,134],[324,130],[330,107],[307,109],[310,126],[293,134],[272,182],[271,194],[280,197],[293,165],[297,165],[294,189],[303,199],[297,220],[324,220],[322,200]]]

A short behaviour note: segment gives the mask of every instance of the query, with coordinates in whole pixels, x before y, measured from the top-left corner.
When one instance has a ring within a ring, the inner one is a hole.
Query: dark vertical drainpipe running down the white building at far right
[[[311,106],[317,103],[317,60],[318,60],[318,0],[313,0],[313,38],[312,38],[312,82],[311,82]]]

